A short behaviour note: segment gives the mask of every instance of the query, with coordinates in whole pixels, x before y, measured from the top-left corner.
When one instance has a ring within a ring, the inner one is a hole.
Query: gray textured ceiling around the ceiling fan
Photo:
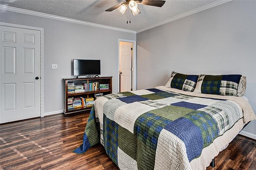
[[[161,8],[139,4],[141,13],[137,16],[130,11],[105,12],[122,0],[0,0],[0,4],[138,32],[221,1],[225,0],[166,0]],[[127,24],[127,19],[131,23]]]

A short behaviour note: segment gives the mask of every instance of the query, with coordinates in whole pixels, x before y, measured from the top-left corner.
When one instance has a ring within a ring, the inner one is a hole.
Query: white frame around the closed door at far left
[[[40,115],[41,117],[44,117],[44,28],[10,24],[5,22],[0,22],[0,25],[40,31]]]

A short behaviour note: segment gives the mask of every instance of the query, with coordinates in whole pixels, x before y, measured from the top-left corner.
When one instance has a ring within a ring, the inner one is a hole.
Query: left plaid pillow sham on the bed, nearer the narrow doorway
[[[186,75],[172,71],[171,77],[165,87],[192,92],[196,87],[197,79],[198,75]]]

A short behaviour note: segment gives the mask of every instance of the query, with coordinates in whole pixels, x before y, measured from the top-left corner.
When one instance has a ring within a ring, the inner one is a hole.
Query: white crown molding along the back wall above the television
[[[136,31],[132,31],[132,30],[126,30],[126,29],[116,28],[116,27],[111,27],[111,26],[104,26],[104,25],[101,25],[101,24],[95,24],[95,23],[91,23],[91,22],[85,22],[85,21],[75,20],[75,19],[61,17],[61,16],[45,14],[45,13],[42,13],[42,12],[24,10],[24,9],[15,8],[15,7],[11,7],[11,6],[0,5],[0,10],[18,12],[18,13],[21,13],[21,14],[28,14],[28,15],[32,15],[32,16],[39,16],[39,17],[50,18],[50,19],[54,19],[54,20],[72,22],[72,23],[76,23],[76,24],[82,24],[82,25],[86,25],[86,26],[93,26],[93,27],[104,28],[104,29],[108,29],[108,30],[128,32],[128,33],[136,34]]]

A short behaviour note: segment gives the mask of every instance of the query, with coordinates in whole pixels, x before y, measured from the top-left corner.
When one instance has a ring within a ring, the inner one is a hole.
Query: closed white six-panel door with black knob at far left
[[[0,123],[40,117],[40,31],[0,26],[0,42]]]

